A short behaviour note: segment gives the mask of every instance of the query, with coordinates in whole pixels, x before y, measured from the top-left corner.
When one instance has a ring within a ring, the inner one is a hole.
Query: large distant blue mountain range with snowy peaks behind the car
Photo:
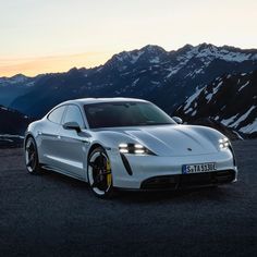
[[[257,50],[186,45],[176,51],[158,46],[114,54],[94,69],[45,74],[16,97],[12,108],[41,117],[54,105],[82,97],[137,97],[172,113],[196,88],[224,73],[257,69]],[[1,101],[0,101],[1,103]]]

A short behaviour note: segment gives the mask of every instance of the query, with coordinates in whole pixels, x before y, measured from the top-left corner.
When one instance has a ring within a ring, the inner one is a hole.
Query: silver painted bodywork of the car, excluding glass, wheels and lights
[[[210,127],[159,125],[88,128],[84,105],[127,100],[144,101],[128,98],[90,98],[61,103],[76,105],[81,109],[85,127],[79,134],[50,122],[48,114],[32,123],[26,135],[30,134],[36,139],[39,162],[60,173],[87,181],[88,151],[91,146],[98,144],[106,148],[110,158],[113,185],[123,188],[139,188],[144,180],[156,175],[181,174],[182,164],[217,162],[218,170],[233,169],[237,172],[231,150],[219,149],[218,140],[224,136]],[[133,170],[133,175],[130,175],[119,152],[121,143],[139,143],[157,156],[126,155]]]

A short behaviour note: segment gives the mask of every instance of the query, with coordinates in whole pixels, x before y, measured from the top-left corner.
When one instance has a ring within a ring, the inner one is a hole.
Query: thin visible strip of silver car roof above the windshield
[[[64,105],[64,103],[65,105],[66,103],[88,105],[88,103],[121,102],[121,101],[147,102],[146,100],[136,99],[136,98],[110,97],[110,98],[81,98],[81,99],[69,100],[69,101],[62,102],[61,105]]]

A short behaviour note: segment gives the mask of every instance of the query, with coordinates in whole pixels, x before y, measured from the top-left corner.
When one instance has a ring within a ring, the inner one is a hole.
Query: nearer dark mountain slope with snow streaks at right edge
[[[257,70],[224,74],[197,89],[174,112],[184,120],[210,118],[227,127],[257,136]]]

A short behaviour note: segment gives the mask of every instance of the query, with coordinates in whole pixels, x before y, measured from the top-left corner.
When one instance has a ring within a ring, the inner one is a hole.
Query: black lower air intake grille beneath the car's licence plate
[[[176,189],[230,183],[235,179],[234,170],[216,172],[154,176],[142,183],[142,189]]]

